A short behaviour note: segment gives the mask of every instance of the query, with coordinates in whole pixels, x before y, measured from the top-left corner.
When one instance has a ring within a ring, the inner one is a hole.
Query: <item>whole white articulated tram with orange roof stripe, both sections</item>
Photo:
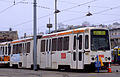
[[[33,68],[33,39],[10,43],[10,66]],[[42,69],[93,69],[99,56],[105,67],[111,62],[109,31],[84,27],[37,38],[37,66]]]

